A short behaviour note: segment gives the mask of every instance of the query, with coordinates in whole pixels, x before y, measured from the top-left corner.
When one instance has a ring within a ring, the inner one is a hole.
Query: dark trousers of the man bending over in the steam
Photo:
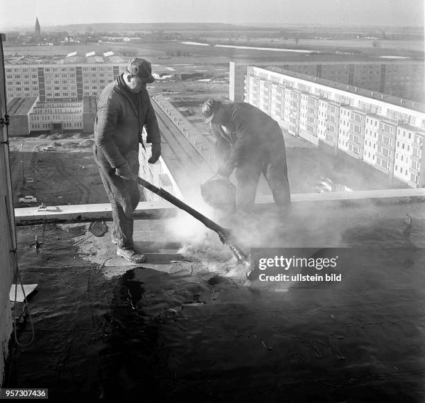
[[[262,172],[272,190],[274,203],[288,207],[291,204],[291,196],[285,148],[283,152],[276,150],[248,157],[236,168],[237,207],[245,211],[252,209]]]

